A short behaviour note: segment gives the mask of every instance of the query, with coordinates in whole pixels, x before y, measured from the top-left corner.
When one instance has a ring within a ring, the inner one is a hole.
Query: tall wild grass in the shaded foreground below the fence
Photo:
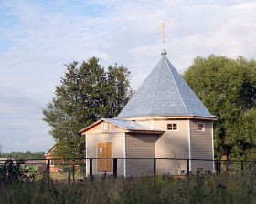
[[[256,172],[174,178],[106,178],[67,182],[43,178],[0,183],[1,204],[256,203]]]

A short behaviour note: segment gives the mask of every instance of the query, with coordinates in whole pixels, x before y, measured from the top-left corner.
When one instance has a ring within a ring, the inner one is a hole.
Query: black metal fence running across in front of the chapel
[[[224,171],[237,172],[237,171],[251,171],[253,168],[256,169],[256,161],[238,161],[238,160],[209,160],[209,159],[187,159],[187,158],[58,158],[58,159],[23,159],[23,160],[13,160],[14,164],[19,164],[19,166],[27,171],[31,172],[47,172],[48,174],[65,174],[68,173],[69,177],[73,180],[80,175],[80,177],[86,176],[86,164],[89,170],[87,171],[87,176],[92,177],[95,171],[95,162],[99,159],[112,159],[112,175],[113,177],[118,176],[118,164],[122,162],[123,159],[127,160],[150,160],[150,171],[153,175],[157,174],[157,163],[160,161],[177,161],[186,164],[186,169],[180,171],[177,174],[190,175],[197,173],[222,173]],[[213,162],[214,172],[202,172],[191,171],[191,162]],[[5,161],[0,158],[0,166],[2,166]],[[93,165],[94,164],[94,165]]]

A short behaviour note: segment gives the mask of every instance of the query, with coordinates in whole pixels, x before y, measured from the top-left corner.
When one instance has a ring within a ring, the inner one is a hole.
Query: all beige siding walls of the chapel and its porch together
[[[112,156],[114,158],[190,158],[213,159],[212,121],[195,119],[154,119],[142,121],[144,125],[152,125],[155,129],[164,130],[162,136],[149,134],[128,134],[122,129],[109,127],[109,133],[102,133],[101,126],[97,126],[86,132],[87,158],[96,158],[96,146],[98,142],[112,142]],[[177,130],[167,131],[168,123],[176,123]],[[205,124],[205,131],[197,131],[197,123]],[[189,130],[190,128],[190,130]],[[190,134],[189,134],[190,133]],[[123,135],[125,145],[123,148]],[[190,137],[190,141],[189,140]],[[126,155],[124,155],[124,153]],[[118,159],[118,175],[124,175],[124,161]],[[152,160],[126,160],[126,176],[142,176],[153,174],[154,161]],[[93,160],[93,174],[96,174],[96,160]],[[197,168],[213,171],[213,162],[191,161],[191,170]],[[89,160],[87,160],[87,175],[89,174]],[[156,170],[159,173],[179,174],[187,172],[187,161],[174,161],[158,159]]]

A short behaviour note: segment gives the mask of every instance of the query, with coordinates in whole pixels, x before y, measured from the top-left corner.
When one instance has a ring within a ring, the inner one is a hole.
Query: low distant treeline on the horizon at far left
[[[15,160],[20,159],[44,159],[45,152],[11,152],[11,153],[0,153],[2,158],[13,158]]]

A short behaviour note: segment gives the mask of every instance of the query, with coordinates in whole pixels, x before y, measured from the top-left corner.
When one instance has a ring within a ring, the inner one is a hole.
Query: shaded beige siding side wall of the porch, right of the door
[[[155,158],[155,135],[126,134],[126,158]],[[126,176],[152,175],[153,159],[126,159]]]

